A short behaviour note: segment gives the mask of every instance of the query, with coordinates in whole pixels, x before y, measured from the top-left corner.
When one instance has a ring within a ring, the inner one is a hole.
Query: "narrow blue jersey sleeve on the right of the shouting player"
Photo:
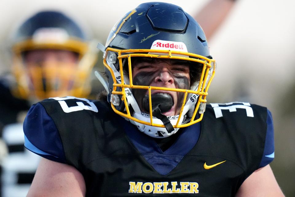
[[[267,130],[265,135],[265,144],[263,156],[258,168],[264,167],[274,159],[274,131],[273,131],[273,119],[271,112],[267,110],[266,118]]]

